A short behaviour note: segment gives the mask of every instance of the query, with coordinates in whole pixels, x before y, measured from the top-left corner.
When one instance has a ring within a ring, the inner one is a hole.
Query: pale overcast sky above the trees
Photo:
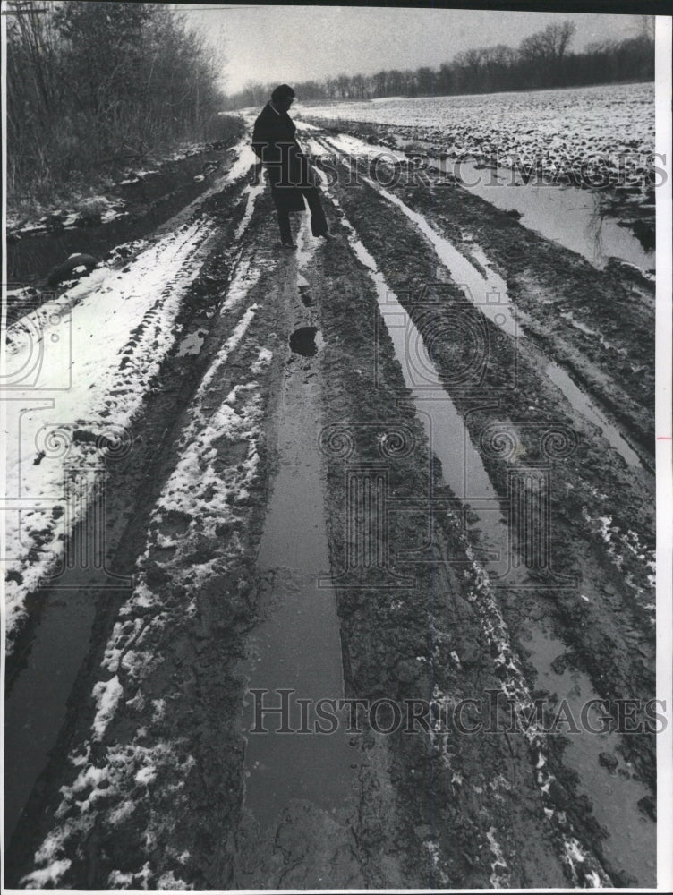
[[[182,4],[175,4],[185,8]],[[384,68],[437,67],[460,50],[521,40],[549,22],[577,25],[571,47],[633,37],[639,16],[353,6],[187,6],[223,57],[227,93],[246,81],[289,83]]]

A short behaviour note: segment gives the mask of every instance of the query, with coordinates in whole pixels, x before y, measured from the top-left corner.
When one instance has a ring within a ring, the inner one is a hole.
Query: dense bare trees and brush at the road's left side
[[[221,61],[168,4],[16,0],[4,15],[13,203],[225,126]]]

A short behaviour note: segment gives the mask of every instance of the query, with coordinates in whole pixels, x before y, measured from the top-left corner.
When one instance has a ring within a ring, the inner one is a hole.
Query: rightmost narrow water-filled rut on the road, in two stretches
[[[516,324],[516,312],[514,314],[512,312],[513,305],[509,302],[505,281],[490,269],[488,261],[478,246],[475,246],[474,250],[477,252],[476,257],[479,258],[481,266],[486,271],[485,277],[444,236],[430,226],[425,217],[410,209],[394,193],[388,192],[371,181],[370,178],[364,179],[386,200],[401,209],[405,216],[413,221],[422,234],[430,240],[433,248],[437,251],[439,260],[445,265],[456,285],[463,290],[465,297],[479,308],[484,316],[488,317],[498,328],[507,332],[509,336],[523,337],[521,328]],[[605,439],[626,460],[628,465],[643,469],[640,457],[628,444],[618,427],[613,422],[609,422],[606,413],[603,413],[592,398],[575,385],[566,371],[563,371],[557,363],[551,362],[547,365],[545,372],[575,411],[601,429]]]

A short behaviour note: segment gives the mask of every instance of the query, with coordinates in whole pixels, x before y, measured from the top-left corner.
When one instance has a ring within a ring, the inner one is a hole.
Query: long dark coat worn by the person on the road
[[[252,149],[268,171],[271,195],[279,211],[303,211],[302,188],[315,185],[295,132],[292,118],[286,112],[276,112],[269,103],[252,130]]]

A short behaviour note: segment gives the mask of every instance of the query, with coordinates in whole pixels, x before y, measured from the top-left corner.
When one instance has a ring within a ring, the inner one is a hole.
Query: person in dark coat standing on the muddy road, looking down
[[[329,239],[328,222],[322,210],[318,187],[311,175],[309,160],[296,141],[294,121],[287,114],[294,101],[294,90],[281,84],[261,110],[252,131],[252,149],[268,170],[271,195],[276,205],[280,239],[294,249],[290,212],[304,211],[304,199],[311,211],[311,233]]]

